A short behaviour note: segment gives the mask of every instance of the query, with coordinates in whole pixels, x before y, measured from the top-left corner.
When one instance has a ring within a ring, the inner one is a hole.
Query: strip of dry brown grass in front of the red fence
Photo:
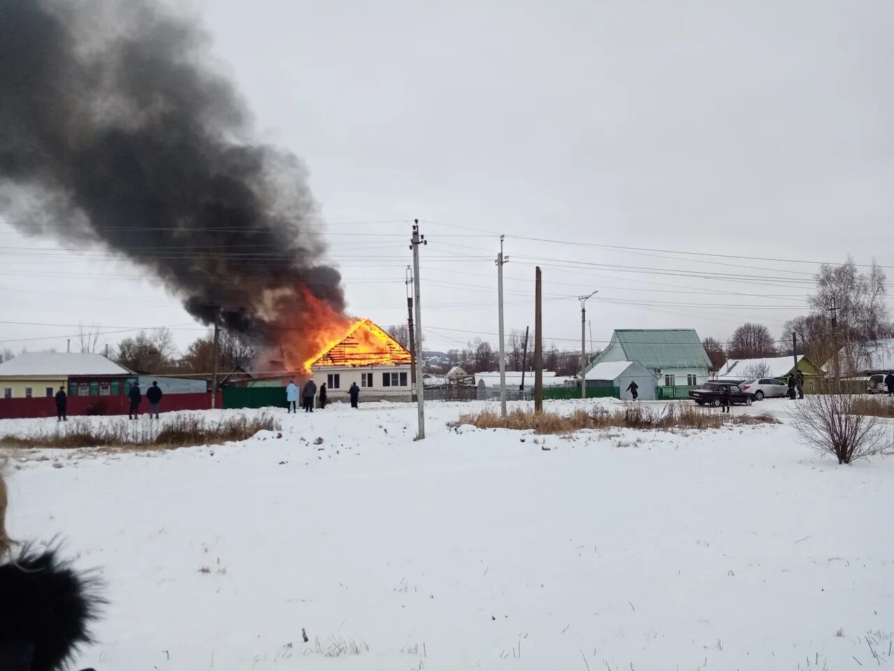
[[[266,412],[253,417],[232,415],[219,421],[207,421],[196,414],[178,414],[159,421],[115,418],[96,422],[78,418],[55,425],[55,430],[37,429],[30,433],[0,437],[0,446],[170,449],[220,445],[246,440],[258,431],[279,429],[280,423]]]

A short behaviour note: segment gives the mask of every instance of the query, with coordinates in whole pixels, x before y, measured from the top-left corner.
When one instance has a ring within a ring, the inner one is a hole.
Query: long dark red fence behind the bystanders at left
[[[210,394],[168,394],[162,398],[161,411],[208,410],[211,407]],[[223,408],[223,394],[217,392],[217,407]],[[127,396],[69,396],[66,410],[68,415],[126,415],[131,409]],[[139,412],[148,412],[148,401],[144,397],[139,403]],[[55,417],[55,399],[40,398],[0,398],[0,420],[16,420],[27,417]]]

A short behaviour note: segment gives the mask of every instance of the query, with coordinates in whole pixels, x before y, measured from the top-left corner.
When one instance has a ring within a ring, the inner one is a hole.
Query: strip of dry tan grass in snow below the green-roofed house
[[[720,429],[724,424],[778,424],[772,415],[724,415],[695,405],[668,403],[662,410],[629,404],[623,409],[592,411],[578,409],[569,415],[554,412],[514,410],[501,417],[485,410],[467,413],[451,426],[471,424],[478,429],[533,430],[537,434],[565,434],[582,429]]]

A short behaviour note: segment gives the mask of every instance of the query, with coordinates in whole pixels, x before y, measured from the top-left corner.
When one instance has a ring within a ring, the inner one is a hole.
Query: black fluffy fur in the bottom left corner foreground
[[[82,645],[105,600],[95,573],[79,573],[58,548],[26,548],[0,564],[0,671],[58,671]]]

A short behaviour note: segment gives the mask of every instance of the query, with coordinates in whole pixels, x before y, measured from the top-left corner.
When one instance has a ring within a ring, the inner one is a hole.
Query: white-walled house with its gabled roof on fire
[[[333,401],[355,382],[366,400],[411,393],[409,352],[369,319],[354,322],[347,333],[325,344],[306,368],[317,387],[326,386]]]

